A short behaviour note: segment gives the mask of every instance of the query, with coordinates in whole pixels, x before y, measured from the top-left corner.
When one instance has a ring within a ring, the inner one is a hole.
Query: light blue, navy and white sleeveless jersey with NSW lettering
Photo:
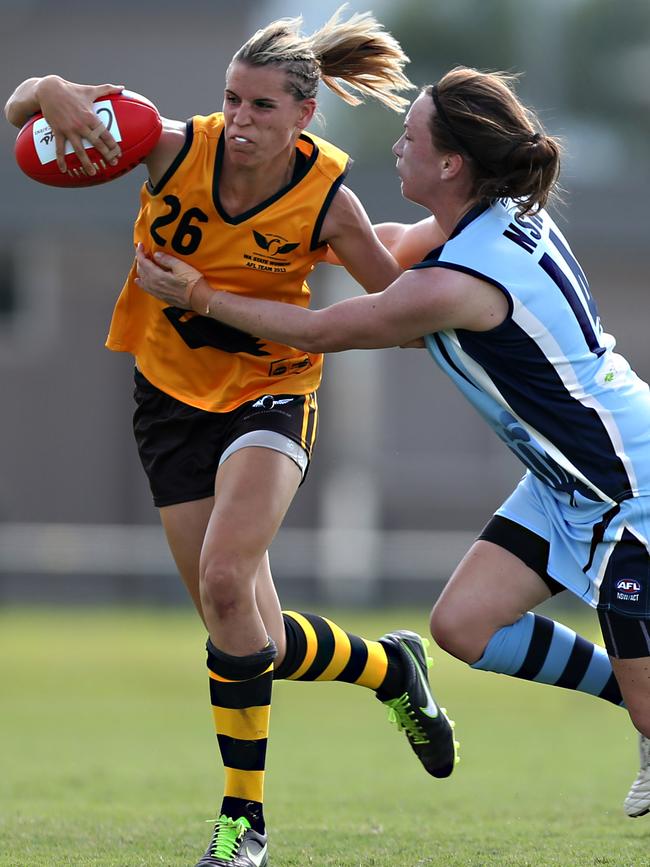
[[[545,211],[519,217],[509,201],[475,208],[414,267],[463,271],[506,295],[498,327],[439,331],[426,344],[560,509],[595,517],[650,495],[650,391],[614,352]]]

